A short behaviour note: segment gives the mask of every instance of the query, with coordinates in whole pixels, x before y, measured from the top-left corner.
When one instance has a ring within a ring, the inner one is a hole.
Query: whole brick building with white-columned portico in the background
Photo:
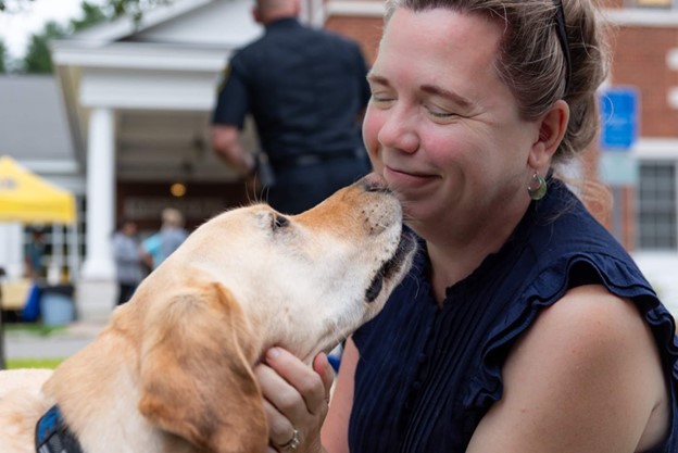
[[[114,292],[110,300],[100,294],[114,291],[108,241],[117,218],[136,216],[151,230],[160,209],[178,204],[194,225],[241,202],[235,175],[206,143],[219,73],[235,49],[261,33],[250,7],[251,0],[174,0],[141,24],[123,17],[53,43],[70,160],[84,183],[76,188],[83,317],[108,316],[113,306]],[[381,1],[302,0],[302,7],[305,22],[356,38],[374,61]],[[587,201],[678,313],[678,0],[606,0],[602,13],[614,43],[607,88],[637,93],[637,137],[616,154],[593,147],[575,171],[614,183],[612,206],[604,198]],[[611,165],[610,156],[623,159]],[[168,192],[177,180],[188,185],[181,199]]]

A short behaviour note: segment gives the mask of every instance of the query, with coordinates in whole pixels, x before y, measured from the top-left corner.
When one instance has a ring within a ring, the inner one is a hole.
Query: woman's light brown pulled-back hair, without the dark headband
[[[441,8],[503,22],[497,71],[515,96],[523,118],[538,119],[558,99],[569,105],[569,124],[554,154],[555,163],[582,151],[595,138],[600,126],[595,90],[608,68],[607,43],[593,0],[563,0],[569,74],[558,40],[557,1],[387,0],[385,22],[388,25],[399,8],[414,12]]]

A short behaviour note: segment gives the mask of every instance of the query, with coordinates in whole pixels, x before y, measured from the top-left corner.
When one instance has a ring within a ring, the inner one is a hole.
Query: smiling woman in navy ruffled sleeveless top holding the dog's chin
[[[420,253],[326,419],[326,358],[269,351],[271,451],[678,451],[675,322],[553,176],[595,137],[601,33],[590,0],[388,3],[363,134]]]

